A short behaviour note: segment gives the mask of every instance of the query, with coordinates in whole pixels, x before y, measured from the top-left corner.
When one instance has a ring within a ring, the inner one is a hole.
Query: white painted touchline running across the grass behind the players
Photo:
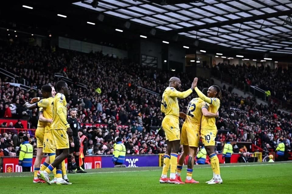
[[[292,162],[291,162],[292,163]],[[225,168],[225,167],[242,167],[242,166],[266,166],[266,165],[280,165],[280,164],[289,164],[289,163],[268,163],[268,164],[254,164],[254,165],[237,165],[237,166],[220,166],[220,168]],[[210,168],[209,167],[198,167],[199,169],[206,169]],[[75,174],[70,174],[71,175],[88,175],[88,174],[106,174],[106,173],[123,173],[123,172],[148,172],[148,171],[161,171],[161,169],[158,170],[133,170],[133,171],[116,171],[116,172],[89,172],[89,173],[75,173]],[[31,177],[31,176],[0,176],[0,178],[14,178],[14,177]]]

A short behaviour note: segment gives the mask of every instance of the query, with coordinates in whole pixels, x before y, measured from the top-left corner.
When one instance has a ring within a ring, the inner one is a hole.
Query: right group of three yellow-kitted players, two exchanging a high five
[[[195,78],[190,89],[185,92],[177,91],[181,87],[179,78],[172,77],[162,95],[161,112],[165,113],[162,121],[162,128],[165,131],[165,137],[168,150],[163,160],[162,176],[160,183],[199,183],[192,178],[193,165],[195,161],[196,151],[199,147],[200,136],[203,145],[210,158],[213,170],[213,178],[207,181],[208,184],[220,184],[222,179],[220,176],[219,159],[215,154],[215,138],[217,135],[217,127],[215,118],[219,116],[221,90],[218,85],[212,85],[203,89],[201,92],[197,88],[198,79]],[[189,102],[186,114],[179,112],[179,104],[177,98],[184,99],[189,96],[193,90],[196,91],[199,98],[194,98]],[[182,131],[179,129],[179,117],[184,118]],[[183,153],[177,162],[179,146],[183,146]],[[182,182],[180,173],[182,165],[189,154],[187,162],[187,176],[185,182]],[[167,178],[167,172],[170,167],[170,178]]]

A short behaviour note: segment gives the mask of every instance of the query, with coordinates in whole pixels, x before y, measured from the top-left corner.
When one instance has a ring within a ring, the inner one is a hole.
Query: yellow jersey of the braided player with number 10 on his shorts
[[[210,98],[211,103],[208,104],[205,102],[205,105],[202,107],[202,109],[207,108],[209,112],[212,112],[216,114],[219,110],[220,107],[220,100],[217,98]],[[217,130],[216,127],[216,119],[215,118],[208,118],[205,117],[204,115],[202,116],[202,121],[201,121],[201,129],[214,129]]]

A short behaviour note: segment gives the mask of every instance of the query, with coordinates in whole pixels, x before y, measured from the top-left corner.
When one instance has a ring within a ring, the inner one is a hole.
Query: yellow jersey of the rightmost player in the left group
[[[64,94],[57,93],[53,102],[53,122],[51,129],[67,129],[67,101]]]

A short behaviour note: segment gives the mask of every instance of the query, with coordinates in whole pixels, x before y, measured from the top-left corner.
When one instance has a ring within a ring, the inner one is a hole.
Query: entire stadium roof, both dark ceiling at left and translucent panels
[[[190,54],[203,49],[279,61],[291,60],[291,14],[292,0],[0,1],[2,28],[116,44],[146,35],[150,41],[189,46]]]

